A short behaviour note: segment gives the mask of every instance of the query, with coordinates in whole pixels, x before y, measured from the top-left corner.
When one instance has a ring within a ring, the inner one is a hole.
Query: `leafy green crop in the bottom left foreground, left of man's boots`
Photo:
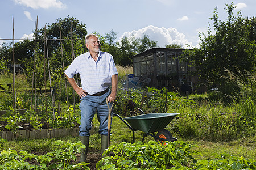
[[[0,169],[89,169],[88,163],[75,163],[76,154],[85,148],[82,143],[56,141],[57,150],[45,155],[30,154],[26,151],[3,150],[0,154]],[[28,163],[35,160],[35,164]]]

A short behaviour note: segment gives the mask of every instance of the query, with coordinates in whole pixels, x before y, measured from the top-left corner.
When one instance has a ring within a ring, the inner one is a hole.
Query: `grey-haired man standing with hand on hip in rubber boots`
[[[101,154],[108,148],[108,105],[112,106],[117,97],[118,73],[113,57],[101,52],[101,44],[97,35],[89,34],[85,37],[86,48],[89,52],[76,57],[65,70],[65,75],[76,93],[81,97],[81,124],[79,138],[86,150],[82,150],[79,162],[85,162],[89,146],[89,130],[96,113],[100,122]],[[75,74],[80,73],[82,87],[77,86]],[[109,87],[111,88],[111,92]],[[111,117],[112,121],[112,117]]]

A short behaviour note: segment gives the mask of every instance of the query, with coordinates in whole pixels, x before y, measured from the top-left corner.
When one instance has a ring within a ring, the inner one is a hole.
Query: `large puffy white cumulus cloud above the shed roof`
[[[149,25],[139,30],[125,32],[120,37],[120,39],[124,36],[134,36],[135,38],[142,38],[144,34],[149,36],[151,40],[158,41],[158,45],[160,47],[164,47],[168,44],[179,44],[183,45],[183,47],[185,48],[187,44],[192,45],[192,42],[189,42],[185,38],[185,35],[178,32],[176,28],[158,28],[153,25]]]

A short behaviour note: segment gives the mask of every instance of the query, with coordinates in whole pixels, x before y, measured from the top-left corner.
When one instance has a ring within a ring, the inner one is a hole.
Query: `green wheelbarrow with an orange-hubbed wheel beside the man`
[[[138,108],[139,109],[139,108]],[[143,114],[138,116],[122,118],[118,114],[113,113],[122,122],[124,122],[128,128],[133,131],[133,143],[135,141],[135,131],[140,130],[144,132],[142,142],[147,135],[154,137],[156,141],[176,141],[177,138],[172,137],[170,131],[164,129],[166,126],[177,116],[179,113],[148,113],[139,109]],[[158,132],[156,135],[155,133]]]

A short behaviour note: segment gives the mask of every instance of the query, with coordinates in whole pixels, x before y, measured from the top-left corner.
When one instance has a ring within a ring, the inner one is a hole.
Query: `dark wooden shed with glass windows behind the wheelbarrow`
[[[143,86],[167,87],[168,90],[181,87],[184,83],[192,87],[193,78],[189,76],[188,63],[176,59],[184,50],[151,48],[133,56],[134,79]]]

